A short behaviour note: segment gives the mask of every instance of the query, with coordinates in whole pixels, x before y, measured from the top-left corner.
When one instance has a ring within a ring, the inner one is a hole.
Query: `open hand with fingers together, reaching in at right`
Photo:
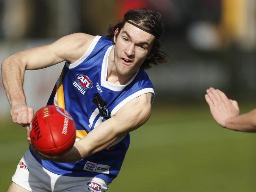
[[[230,100],[227,96],[218,89],[206,90],[205,100],[210,107],[211,114],[214,120],[222,127],[227,127],[226,121],[229,118],[239,115],[239,107],[236,101]]]

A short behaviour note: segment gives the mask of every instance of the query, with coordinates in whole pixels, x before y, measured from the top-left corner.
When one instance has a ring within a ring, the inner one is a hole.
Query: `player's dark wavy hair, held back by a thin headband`
[[[150,59],[146,59],[144,63],[142,64],[142,67],[144,69],[151,68],[150,64],[153,63],[154,65],[157,65],[158,63],[165,63],[166,60],[166,54],[162,51],[160,51],[160,48],[162,47],[160,42],[160,37],[163,35],[163,22],[162,17],[160,13],[151,11],[149,9],[132,9],[127,11],[124,14],[124,19],[119,21],[115,26],[109,25],[108,28],[108,34],[107,38],[111,40],[114,44],[114,33],[115,30],[118,28],[118,33],[121,31],[125,24],[125,20],[131,20],[135,24],[149,30],[154,34],[155,41],[152,47],[152,50],[150,52]]]

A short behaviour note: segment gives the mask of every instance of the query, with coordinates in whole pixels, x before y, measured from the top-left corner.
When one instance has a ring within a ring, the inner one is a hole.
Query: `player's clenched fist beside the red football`
[[[34,110],[26,104],[14,105],[11,107],[11,117],[13,122],[21,124],[23,127],[28,126],[33,118]]]

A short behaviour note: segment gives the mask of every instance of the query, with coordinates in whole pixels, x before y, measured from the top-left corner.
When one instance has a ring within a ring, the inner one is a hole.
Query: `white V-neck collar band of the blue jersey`
[[[134,78],[137,75],[137,73],[139,72],[139,70],[130,79],[130,81],[128,81],[128,83],[126,85],[117,85],[117,84],[110,83],[110,82],[106,81],[107,74],[108,74],[108,57],[109,57],[109,53],[111,52],[112,48],[113,48],[113,45],[108,48],[108,50],[106,51],[106,54],[104,55],[103,62],[102,62],[102,68],[101,68],[100,84],[101,84],[101,86],[106,87],[110,90],[121,91],[124,89],[124,87],[129,85],[134,80]]]

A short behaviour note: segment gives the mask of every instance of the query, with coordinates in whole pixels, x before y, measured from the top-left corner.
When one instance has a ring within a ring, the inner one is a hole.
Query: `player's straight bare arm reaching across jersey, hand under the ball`
[[[143,94],[124,105],[115,116],[95,127],[86,137],[75,142],[73,148],[58,159],[40,158],[57,162],[75,162],[106,149],[117,138],[143,125],[150,117],[152,94]]]

